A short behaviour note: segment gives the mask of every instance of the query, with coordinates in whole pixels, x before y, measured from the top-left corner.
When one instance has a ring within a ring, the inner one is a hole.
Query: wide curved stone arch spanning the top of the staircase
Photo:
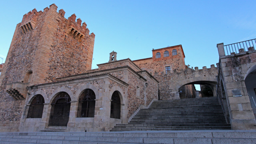
[[[181,81],[179,84],[177,84],[175,87],[175,91],[177,92],[182,85],[200,84],[200,83],[211,84],[213,86],[216,86],[217,79],[216,79],[216,77],[211,77],[211,76],[192,77],[192,78],[186,79],[184,81]]]

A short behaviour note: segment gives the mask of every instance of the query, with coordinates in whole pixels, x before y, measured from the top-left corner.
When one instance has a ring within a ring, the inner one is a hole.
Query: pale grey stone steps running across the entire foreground
[[[0,132],[0,144],[255,144],[256,131]]]

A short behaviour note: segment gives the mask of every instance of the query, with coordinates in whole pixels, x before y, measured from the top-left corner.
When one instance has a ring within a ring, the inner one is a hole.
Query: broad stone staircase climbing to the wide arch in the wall
[[[231,129],[217,97],[159,100],[111,131]]]

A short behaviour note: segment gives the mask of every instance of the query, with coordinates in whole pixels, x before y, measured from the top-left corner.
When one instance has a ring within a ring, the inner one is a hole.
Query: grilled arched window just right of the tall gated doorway
[[[95,93],[91,89],[85,89],[78,103],[77,117],[94,117]]]

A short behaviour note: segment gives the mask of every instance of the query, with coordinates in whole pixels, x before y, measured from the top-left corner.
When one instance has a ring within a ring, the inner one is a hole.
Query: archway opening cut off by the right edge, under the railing
[[[244,83],[250,98],[254,117],[256,118],[256,65],[247,71],[244,77]]]

